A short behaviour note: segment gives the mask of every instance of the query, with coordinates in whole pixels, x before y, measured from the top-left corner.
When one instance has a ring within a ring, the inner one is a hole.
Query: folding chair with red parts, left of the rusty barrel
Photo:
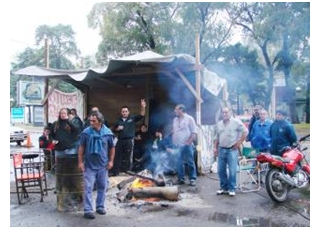
[[[41,158],[39,152],[13,154],[13,168],[19,204],[22,204],[23,199],[29,197],[29,193],[40,193],[40,202],[43,202],[44,195],[48,195],[44,161]]]

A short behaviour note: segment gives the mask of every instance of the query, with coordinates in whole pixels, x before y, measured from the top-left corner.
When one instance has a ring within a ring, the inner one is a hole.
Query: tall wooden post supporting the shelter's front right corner
[[[198,98],[201,98],[201,70],[200,70],[200,35],[196,35],[195,41],[195,48],[196,48],[196,92]],[[198,134],[197,134],[197,167],[198,172],[202,173],[202,166],[201,166],[201,151],[202,151],[202,131],[201,131],[201,100],[196,99],[196,123],[198,126]]]

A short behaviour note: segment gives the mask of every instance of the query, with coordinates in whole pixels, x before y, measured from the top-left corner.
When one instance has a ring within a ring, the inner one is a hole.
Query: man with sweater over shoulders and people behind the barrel
[[[45,153],[53,151],[55,160],[63,157],[78,160],[78,167],[84,174],[84,217],[88,219],[95,218],[93,187],[97,189],[96,212],[106,214],[108,169],[113,167],[115,146],[114,135],[104,123],[104,116],[98,109],[92,109],[83,123],[75,109],[62,108],[58,119],[45,127],[39,137],[39,147]]]

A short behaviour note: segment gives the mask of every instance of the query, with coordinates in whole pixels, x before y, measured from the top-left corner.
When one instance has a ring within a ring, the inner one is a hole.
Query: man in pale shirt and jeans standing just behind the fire
[[[174,109],[176,117],[172,124],[172,143],[178,150],[177,174],[178,184],[185,183],[185,165],[188,167],[188,175],[191,186],[196,185],[197,170],[194,162],[193,141],[196,138],[196,123],[192,116],[186,113],[186,107],[178,104]]]

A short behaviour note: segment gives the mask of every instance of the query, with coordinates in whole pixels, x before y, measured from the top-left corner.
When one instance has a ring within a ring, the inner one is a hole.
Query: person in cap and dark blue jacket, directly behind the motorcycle
[[[297,143],[295,129],[286,117],[285,111],[277,110],[275,120],[270,127],[270,153],[273,155],[282,156],[286,147],[292,147]]]

